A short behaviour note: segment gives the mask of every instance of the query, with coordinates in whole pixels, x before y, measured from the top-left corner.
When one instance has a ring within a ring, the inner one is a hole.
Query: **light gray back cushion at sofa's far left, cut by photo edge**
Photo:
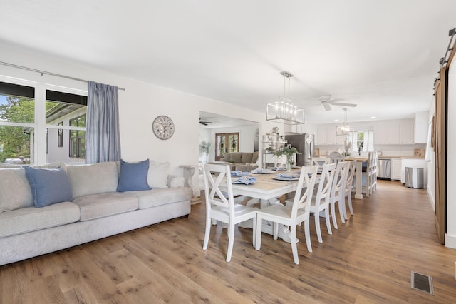
[[[33,206],[33,196],[24,168],[0,169],[0,214]]]

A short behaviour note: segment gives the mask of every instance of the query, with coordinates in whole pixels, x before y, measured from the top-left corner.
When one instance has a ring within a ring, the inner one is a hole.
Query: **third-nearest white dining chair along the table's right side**
[[[329,204],[331,206],[331,218],[333,219],[334,228],[338,229],[336,219],[336,203],[338,203],[339,213],[341,215],[342,223],[345,223],[345,216],[343,214],[343,194],[345,193],[345,185],[348,175],[348,161],[339,161],[334,173],[333,185],[331,186],[331,196]]]

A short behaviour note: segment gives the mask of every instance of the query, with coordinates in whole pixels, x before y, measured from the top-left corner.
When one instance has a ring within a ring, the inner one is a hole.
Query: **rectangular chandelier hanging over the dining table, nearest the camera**
[[[266,121],[276,121],[290,125],[304,123],[304,109],[296,106],[290,98],[290,78],[293,77],[289,71],[280,73],[284,76],[284,96],[279,101],[266,104]],[[286,80],[288,79],[288,95],[286,94]]]

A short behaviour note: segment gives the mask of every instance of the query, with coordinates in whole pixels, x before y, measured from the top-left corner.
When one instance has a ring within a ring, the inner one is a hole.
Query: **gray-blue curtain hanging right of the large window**
[[[118,87],[88,81],[86,163],[120,161]]]

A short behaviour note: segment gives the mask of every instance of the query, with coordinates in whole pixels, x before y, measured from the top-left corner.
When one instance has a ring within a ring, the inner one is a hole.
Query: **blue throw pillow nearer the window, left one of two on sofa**
[[[45,169],[24,166],[24,170],[31,186],[33,204],[36,207],[73,200],[70,179],[62,168]]]

